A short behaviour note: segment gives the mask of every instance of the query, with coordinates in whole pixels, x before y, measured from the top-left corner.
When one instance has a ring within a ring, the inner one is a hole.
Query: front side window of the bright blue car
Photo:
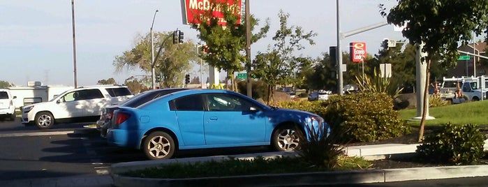
[[[214,93],[206,95],[207,107],[209,111],[249,111],[250,107],[256,107],[239,96],[230,94]]]

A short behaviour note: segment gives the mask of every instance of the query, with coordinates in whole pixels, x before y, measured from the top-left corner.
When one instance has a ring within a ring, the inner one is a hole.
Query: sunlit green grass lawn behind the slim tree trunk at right
[[[427,120],[428,126],[441,126],[451,124],[488,125],[488,100],[461,103],[443,107],[430,107],[429,116],[436,119]],[[400,110],[401,119],[417,117],[416,109]],[[408,121],[412,126],[420,126],[420,121]]]

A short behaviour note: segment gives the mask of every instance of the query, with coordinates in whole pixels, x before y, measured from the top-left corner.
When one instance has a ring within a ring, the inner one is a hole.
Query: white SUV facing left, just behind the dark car
[[[96,121],[101,108],[116,105],[133,94],[127,87],[94,86],[71,89],[50,101],[22,108],[22,124],[36,124],[40,129],[52,128],[54,123]]]

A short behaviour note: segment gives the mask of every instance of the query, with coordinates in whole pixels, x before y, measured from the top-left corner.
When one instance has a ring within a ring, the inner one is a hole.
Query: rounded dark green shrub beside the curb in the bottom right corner
[[[485,137],[472,124],[446,124],[424,137],[424,143],[417,146],[420,158],[438,163],[466,165],[478,161],[484,156]]]

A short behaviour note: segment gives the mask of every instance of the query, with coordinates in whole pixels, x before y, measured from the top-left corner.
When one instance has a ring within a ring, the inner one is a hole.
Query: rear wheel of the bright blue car
[[[167,159],[175,154],[175,141],[165,132],[149,134],[142,144],[142,150],[150,160]]]

